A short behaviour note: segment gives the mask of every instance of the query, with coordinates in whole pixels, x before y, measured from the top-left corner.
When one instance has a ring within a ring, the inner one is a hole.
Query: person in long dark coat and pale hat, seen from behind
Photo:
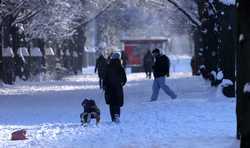
[[[114,53],[107,66],[103,80],[105,101],[109,105],[113,122],[119,122],[120,107],[123,106],[123,86],[127,82],[124,68],[121,65],[120,54]]]

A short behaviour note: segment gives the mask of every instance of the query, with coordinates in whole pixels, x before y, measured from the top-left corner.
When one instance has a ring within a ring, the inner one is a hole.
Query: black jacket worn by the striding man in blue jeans
[[[155,78],[169,76],[170,61],[165,55],[159,55],[155,59],[153,65],[153,73]]]

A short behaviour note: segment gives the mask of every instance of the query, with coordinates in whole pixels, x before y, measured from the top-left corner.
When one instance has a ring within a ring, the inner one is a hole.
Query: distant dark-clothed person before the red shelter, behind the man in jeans
[[[154,64],[154,57],[151,54],[151,51],[148,50],[147,53],[143,57],[143,67],[146,73],[146,78],[151,79],[152,66]]]

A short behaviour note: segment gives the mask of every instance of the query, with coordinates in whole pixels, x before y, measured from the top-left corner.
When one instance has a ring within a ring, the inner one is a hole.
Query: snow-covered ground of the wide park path
[[[223,97],[190,72],[172,72],[166,83],[178,98],[171,100],[160,92],[156,102],[149,102],[152,80],[143,73],[128,74],[120,124],[111,123],[94,74],[4,85],[0,147],[239,148],[235,99]],[[84,97],[94,99],[101,109],[98,126],[80,126]],[[18,129],[27,130],[28,140],[10,140],[10,133]]]

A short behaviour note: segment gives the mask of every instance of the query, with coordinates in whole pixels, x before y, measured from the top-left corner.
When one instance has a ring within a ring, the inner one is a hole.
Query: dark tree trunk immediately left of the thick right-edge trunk
[[[236,10],[235,6],[222,3],[219,3],[216,8],[220,26],[221,66],[224,79],[231,80],[233,83],[224,87],[223,93],[227,97],[235,97]]]

